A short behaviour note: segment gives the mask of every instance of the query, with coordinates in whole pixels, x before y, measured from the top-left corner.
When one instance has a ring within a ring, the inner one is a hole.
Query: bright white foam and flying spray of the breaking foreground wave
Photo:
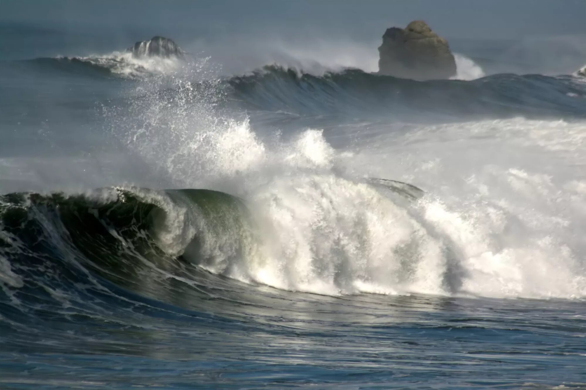
[[[211,272],[327,295],[586,296],[584,123],[384,125],[338,151],[319,129],[261,138],[160,98],[133,109],[147,125],[117,131],[176,186],[237,194],[254,215],[254,234],[206,238]],[[428,194],[410,203],[364,176]]]

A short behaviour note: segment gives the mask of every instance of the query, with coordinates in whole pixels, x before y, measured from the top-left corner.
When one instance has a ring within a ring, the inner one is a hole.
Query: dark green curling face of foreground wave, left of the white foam
[[[219,191],[12,193],[0,203],[0,250],[11,263],[24,261],[23,252],[61,268],[76,263],[143,293],[169,275],[218,266],[218,256],[226,266],[252,238],[243,201]]]

